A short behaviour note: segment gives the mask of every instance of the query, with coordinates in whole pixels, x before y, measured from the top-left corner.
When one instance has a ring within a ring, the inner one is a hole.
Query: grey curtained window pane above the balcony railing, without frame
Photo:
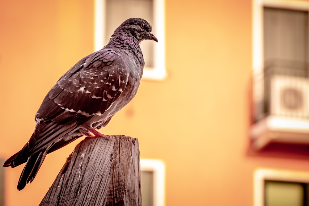
[[[264,6],[263,13],[264,66],[276,61],[308,64],[308,10]]]

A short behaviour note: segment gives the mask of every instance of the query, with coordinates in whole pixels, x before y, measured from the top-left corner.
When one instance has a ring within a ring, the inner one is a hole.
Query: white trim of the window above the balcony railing
[[[263,7],[309,11],[308,1],[298,0],[252,0],[252,68],[254,74],[263,72],[264,38]]]

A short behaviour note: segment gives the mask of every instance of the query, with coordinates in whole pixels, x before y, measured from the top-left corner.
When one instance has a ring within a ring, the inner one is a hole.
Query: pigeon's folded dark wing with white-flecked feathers
[[[128,78],[127,64],[119,54],[109,49],[92,53],[59,79],[36,120],[66,122],[79,117],[77,123],[82,124],[83,116],[102,115],[125,90]]]

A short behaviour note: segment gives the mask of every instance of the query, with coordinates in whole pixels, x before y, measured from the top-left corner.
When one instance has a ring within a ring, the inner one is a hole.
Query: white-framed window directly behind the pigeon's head
[[[143,78],[165,78],[164,0],[95,0],[95,51],[104,47],[114,30],[131,17],[143,18],[153,27],[158,43],[143,41]]]

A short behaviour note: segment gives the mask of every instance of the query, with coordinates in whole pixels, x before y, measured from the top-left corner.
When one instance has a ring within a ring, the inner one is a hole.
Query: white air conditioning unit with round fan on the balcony
[[[270,81],[270,114],[282,117],[309,117],[309,79],[273,75]]]

